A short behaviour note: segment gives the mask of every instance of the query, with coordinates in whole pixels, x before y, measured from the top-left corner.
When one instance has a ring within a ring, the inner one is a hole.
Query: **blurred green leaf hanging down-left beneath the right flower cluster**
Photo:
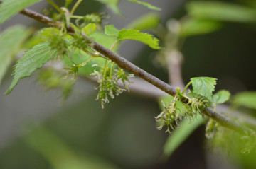
[[[184,119],[181,122],[180,129],[174,130],[164,144],[164,156],[169,157],[171,154],[190,136],[205,120],[200,116],[194,122]]]

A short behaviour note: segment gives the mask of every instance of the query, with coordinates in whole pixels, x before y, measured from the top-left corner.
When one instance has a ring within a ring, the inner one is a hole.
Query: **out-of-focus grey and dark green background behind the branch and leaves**
[[[56,1],[62,4],[62,1]],[[186,15],[185,0],[149,0],[162,10],[161,25]],[[226,1],[255,8],[251,0]],[[30,6],[41,12],[46,1]],[[102,4],[85,0],[79,14],[107,11],[107,22],[122,29],[151,12],[144,6],[120,1],[124,16],[116,16]],[[3,31],[22,24],[41,28],[20,14],[0,25]],[[183,44],[183,81],[191,77],[218,78],[218,89],[232,94],[256,90],[256,24],[227,22],[210,34],[188,37]],[[139,42],[121,45],[119,54],[168,82],[166,69],[156,66],[157,52]],[[169,158],[161,158],[169,134],[156,129],[154,117],[161,111],[156,99],[124,93],[101,108],[95,101],[95,83],[80,79],[64,103],[58,91],[44,92],[36,76],[21,80],[10,95],[11,69],[0,86],[0,168],[250,168],[207,146],[204,127],[196,129]],[[146,88],[147,86],[145,86]]]

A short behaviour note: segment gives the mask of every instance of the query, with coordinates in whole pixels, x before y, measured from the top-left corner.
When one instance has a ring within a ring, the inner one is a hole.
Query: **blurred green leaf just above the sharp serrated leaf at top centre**
[[[150,30],[156,28],[161,21],[159,13],[146,13],[144,16],[137,18],[132,23],[126,26],[126,28],[132,28],[135,30]]]

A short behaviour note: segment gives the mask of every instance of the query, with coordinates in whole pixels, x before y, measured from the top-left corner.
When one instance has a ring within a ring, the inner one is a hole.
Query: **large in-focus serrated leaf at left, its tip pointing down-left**
[[[13,73],[14,79],[5,94],[8,95],[11,93],[21,78],[31,76],[36,69],[41,68],[43,64],[53,59],[55,53],[56,51],[51,49],[49,42],[43,42],[28,50],[28,52],[18,60]]]

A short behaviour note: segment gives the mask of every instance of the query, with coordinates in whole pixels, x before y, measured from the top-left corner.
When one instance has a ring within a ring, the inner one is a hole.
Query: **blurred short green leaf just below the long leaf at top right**
[[[202,35],[206,33],[213,33],[219,30],[222,24],[218,21],[204,21],[197,19],[188,19],[181,23],[181,33],[183,37],[188,37],[191,35]]]

